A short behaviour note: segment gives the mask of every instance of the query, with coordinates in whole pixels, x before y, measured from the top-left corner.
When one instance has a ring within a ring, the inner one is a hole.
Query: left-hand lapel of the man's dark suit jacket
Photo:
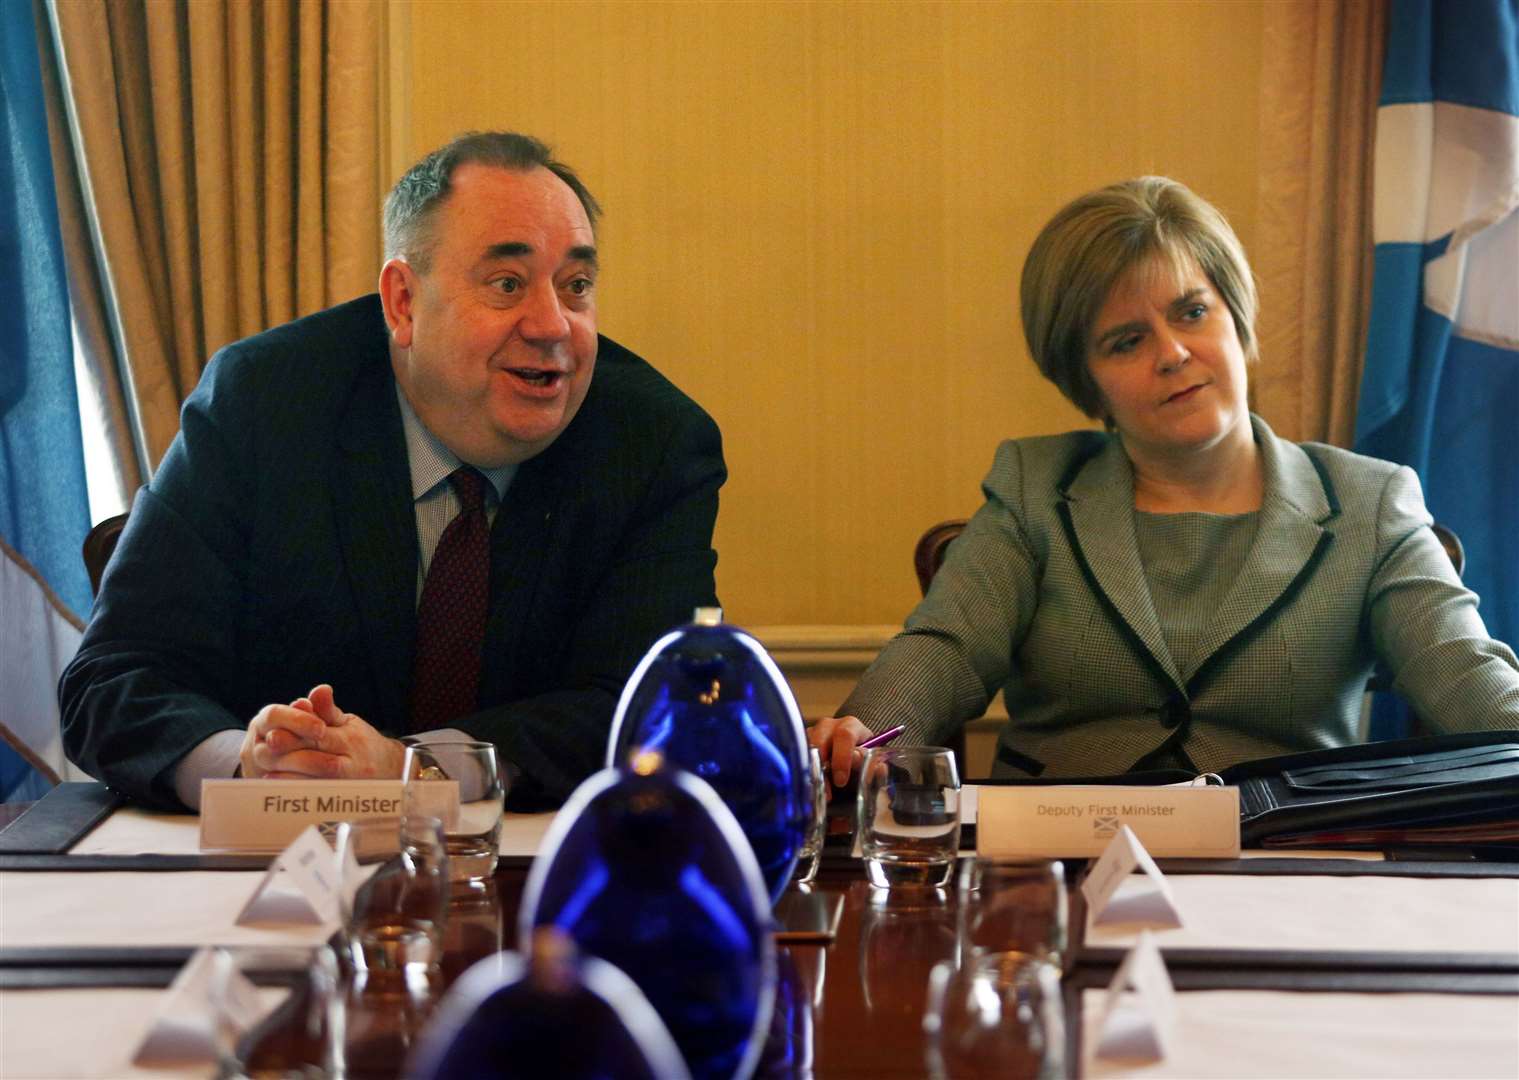
[[[381,709],[366,720],[404,732],[416,635],[416,513],[401,409],[383,351],[355,380],[339,431],[333,507]]]

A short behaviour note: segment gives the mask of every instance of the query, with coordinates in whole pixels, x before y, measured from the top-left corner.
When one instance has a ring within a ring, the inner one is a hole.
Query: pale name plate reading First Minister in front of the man
[[[201,851],[284,851],[307,825],[401,816],[401,781],[201,781]],[[427,813],[459,814],[459,781],[428,781]],[[436,805],[433,801],[436,799]]]

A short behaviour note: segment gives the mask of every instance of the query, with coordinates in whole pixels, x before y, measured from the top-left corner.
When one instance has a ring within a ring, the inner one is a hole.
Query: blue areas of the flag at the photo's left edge
[[[85,614],[90,501],[36,49],[32,5],[0,3],[0,538]],[[0,741],[0,799],[41,790],[43,778]]]

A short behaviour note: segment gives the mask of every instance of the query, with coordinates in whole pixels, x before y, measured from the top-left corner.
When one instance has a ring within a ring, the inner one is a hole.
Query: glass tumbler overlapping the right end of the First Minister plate
[[[459,813],[444,822],[448,870],[454,881],[485,881],[495,873],[501,849],[501,808],[506,782],[491,743],[415,743],[406,747],[404,813],[437,813],[428,785],[459,784]]]

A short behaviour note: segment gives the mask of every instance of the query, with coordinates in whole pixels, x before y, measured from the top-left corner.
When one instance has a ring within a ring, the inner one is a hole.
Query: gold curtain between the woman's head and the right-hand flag
[[[1290,439],[1349,447],[1372,296],[1372,156],[1387,0],[1265,5],[1261,363],[1255,404]]]

